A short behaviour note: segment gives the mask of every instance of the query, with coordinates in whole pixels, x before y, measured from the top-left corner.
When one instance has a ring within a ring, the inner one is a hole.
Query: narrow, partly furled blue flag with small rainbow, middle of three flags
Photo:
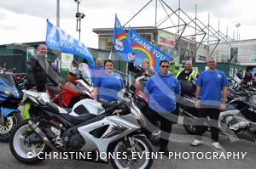
[[[128,54],[132,53],[131,44],[117,16],[115,16],[114,21],[113,37],[113,47],[116,53],[119,54],[125,62],[129,62]]]

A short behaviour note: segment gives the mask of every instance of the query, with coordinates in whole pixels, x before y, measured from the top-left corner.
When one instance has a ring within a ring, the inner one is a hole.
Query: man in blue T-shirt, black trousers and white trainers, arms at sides
[[[212,133],[212,146],[215,149],[221,149],[218,144],[218,116],[220,110],[226,109],[229,82],[223,71],[216,70],[214,58],[209,58],[207,64],[208,70],[203,71],[196,82],[195,108],[199,109],[196,126],[198,136],[191,145],[201,144],[201,136],[206,128],[203,125],[209,116],[211,119],[209,125]]]

